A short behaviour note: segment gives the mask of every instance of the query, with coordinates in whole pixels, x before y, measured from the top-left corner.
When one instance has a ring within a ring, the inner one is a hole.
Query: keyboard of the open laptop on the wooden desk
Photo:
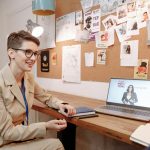
[[[103,106],[101,107],[102,109],[108,109],[108,110],[113,110],[113,111],[119,111],[119,112],[125,112],[125,113],[130,113],[130,114],[134,114],[134,115],[141,115],[141,116],[150,116],[150,111],[140,111],[140,110],[133,110],[131,109],[127,109],[127,108],[122,108],[122,107],[117,107],[117,106]]]

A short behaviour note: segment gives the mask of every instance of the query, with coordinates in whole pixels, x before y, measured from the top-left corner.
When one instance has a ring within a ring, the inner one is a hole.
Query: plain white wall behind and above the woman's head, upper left
[[[12,19],[12,16],[17,17],[17,15],[22,11],[23,9],[26,9],[31,6],[32,0],[1,0],[0,1],[0,68],[2,68],[7,62],[7,36],[10,32],[20,30],[19,25],[22,24],[24,16],[21,16],[18,21],[15,21],[13,24],[10,23],[10,20]],[[29,12],[31,13],[31,12]],[[15,29],[15,30],[14,30]]]

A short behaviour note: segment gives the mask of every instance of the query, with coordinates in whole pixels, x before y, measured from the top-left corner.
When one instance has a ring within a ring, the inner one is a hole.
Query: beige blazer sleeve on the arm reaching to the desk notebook
[[[47,90],[43,89],[37,82],[34,82],[35,99],[47,104],[49,107],[59,109],[58,104],[63,103],[62,100],[52,96]]]

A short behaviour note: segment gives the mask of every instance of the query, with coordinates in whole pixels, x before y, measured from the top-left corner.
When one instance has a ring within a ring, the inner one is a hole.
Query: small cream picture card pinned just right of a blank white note
[[[106,64],[106,49],[97,50],[97,64]]]

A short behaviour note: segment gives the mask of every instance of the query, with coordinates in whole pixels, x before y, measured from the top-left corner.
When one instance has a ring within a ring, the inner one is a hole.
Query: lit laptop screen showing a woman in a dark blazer
[[[150,80],[112,78],[107,102],[150,108]]]

